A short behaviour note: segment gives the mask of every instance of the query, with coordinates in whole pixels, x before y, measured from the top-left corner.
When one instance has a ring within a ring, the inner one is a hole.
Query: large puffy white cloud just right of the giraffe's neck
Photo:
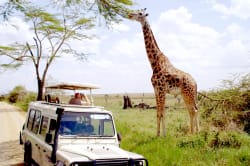
[[[153,28],[159,46],[176,63],[190,64],[211,58],[208,50],[218,49],[220,34],[211,27],[194,23],[184,7],[162,13]]]

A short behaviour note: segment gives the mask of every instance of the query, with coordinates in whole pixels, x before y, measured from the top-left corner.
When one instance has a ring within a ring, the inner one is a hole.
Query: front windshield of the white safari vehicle
[[[115,130],[110,114],[64,112],[59,134],[62,136],[113,137]]]

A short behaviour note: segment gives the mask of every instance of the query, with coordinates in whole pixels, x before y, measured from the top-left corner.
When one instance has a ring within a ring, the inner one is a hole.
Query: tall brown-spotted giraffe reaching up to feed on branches
[[[128,13],[129,19],[138,21],[142,25],[145,48],[153,70],[151,83],[156,98],[157,136],[160,136],[161,125],[163,136],[166,135],[166,93],[174,95],[181,94],[188,109],[191,133],[198,132],[197,84],[190,74],[175,68],[169,61],[168,57],[161,52],[154,38],[149,22],[147,21],[147,16],[146,8]]]

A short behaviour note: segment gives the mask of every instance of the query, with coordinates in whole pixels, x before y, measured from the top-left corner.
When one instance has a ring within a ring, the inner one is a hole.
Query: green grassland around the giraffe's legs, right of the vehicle
[[[132,103],[155,106],[153,94],[129,94]],[[105,100],[106,98],[106,100]],[[211,118],[199,108],[201,131],[189,133],[188,112],[176,98],[167,96],[165,137],[156,137],[156,110],[123,108],[122,95],[95,95],[95,104],[112,111],[116,128],[122,135],[123,149],[142,154],[150,166],[239,166],[250,165],[250,136],[231,124],[228,128],[215,127]],[[216,119],[223,122],[225,117]]]

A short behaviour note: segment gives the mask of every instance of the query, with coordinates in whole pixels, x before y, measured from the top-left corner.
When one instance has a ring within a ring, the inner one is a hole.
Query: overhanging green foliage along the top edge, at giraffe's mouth
[[[31,0],[9,0],[4,5],[0,6],[1,15],[6,20],[16,11],[25,12]],[[74,9],[84,11],[91,15],[101,16],[107,24],[111,22],[121,21],[121,17],[127,17],[129,7],[134,5],[132,0],[52,0],[49,1],[55,9],[69,9],[73,12]]]

